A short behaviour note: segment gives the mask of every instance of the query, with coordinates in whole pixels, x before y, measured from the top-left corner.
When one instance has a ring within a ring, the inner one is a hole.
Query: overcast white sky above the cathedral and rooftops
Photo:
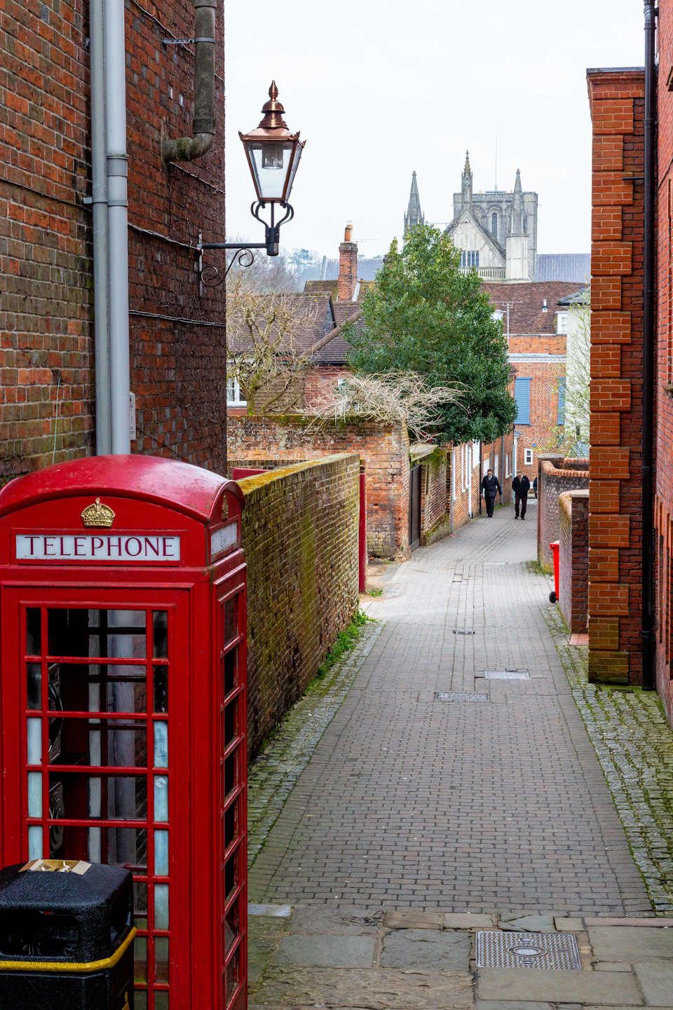
[[[587,67],[643,63],[642,0],[225,0],[229,235],[261,241],[238,129],[272,78],[307,140],[283,244],[361,255],[399,236],[411,171],[427,221],[453,216],[465,150],[474,187],[540,197],[540,252],[588,252]],[[365,239],[368,239],[365,241]]]

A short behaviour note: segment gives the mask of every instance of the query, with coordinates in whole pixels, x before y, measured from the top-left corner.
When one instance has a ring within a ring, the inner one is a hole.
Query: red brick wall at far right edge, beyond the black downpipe
[[[659,4],[659,61],[661,68],[673,63],[673,0]],[[660,71],[660,73],[662,73]],[[668,75],[668,70],[666,70]],[[673,723],[671,680],[671,580],[673,568],[673,110],[671,93],[659,85],[658,128],[658,254],[657,254],[657,432],[656,499],[657,596],[656,656],[657,690]]]

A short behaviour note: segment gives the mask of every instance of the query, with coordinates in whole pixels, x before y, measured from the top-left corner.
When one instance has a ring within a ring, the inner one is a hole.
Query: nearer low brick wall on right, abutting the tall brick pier
[[[589,606],[589,492],[559,495],[559,606],[571,631],[586,632]]]

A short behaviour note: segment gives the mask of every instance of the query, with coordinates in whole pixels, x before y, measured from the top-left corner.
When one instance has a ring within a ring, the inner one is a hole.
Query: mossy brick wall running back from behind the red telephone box
[[[238,482],[246,496],[251,755],[302,695],[358,607],[360,459],[341,453]]]

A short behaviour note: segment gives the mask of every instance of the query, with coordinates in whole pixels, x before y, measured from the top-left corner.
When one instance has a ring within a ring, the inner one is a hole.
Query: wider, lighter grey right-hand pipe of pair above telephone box
[[[130,452],[124,0],[104,2],[111,451],[124,454]]]

